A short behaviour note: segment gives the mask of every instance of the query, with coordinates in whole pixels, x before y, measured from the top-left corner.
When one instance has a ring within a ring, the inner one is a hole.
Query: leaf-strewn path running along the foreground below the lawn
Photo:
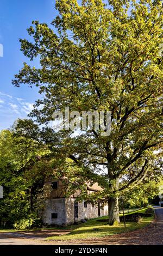
[[[123,234],[78,241],[46,241],[45,237],[68,230],[0,233],[0,245],[163,245],[163,208],[155,208],[156,219],[147,228]]]

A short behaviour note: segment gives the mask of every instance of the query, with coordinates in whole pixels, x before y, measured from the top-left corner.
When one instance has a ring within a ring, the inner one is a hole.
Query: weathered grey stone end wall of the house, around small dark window
[[[52,214],[58,214],[58,218],[52,218]],[[48,225],[65,225],[65,198],[50,198],[46,200],[45,211],[43,212],[43,223]]]

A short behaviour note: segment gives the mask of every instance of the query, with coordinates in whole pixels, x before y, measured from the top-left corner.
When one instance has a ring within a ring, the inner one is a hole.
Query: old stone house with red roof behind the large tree
[[[77,202],[76,198],[80,191],[74,193],[70,198],[65,197],[62,179],[46,181],[46,185],[52,186],[43,211],[43,223],[49,225],[69,225],[81,221],[84,218],[96,218],[108,215],[108,205],[101,207],[98,204]],[[87,193],[96,193],[102,190],[98,184],[87,185]]]

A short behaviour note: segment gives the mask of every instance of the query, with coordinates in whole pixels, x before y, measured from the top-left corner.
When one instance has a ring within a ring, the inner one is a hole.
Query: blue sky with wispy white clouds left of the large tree
[[[28,59],[20,51],[19,38],[29,39],[26,29],[33,20],[50,24],[57,12],[54,0],[1,0],[0,2],[0,130],[8,129],[17,118],[25,118],[39,97],[37,88],[11,84]],[[32,65],[37,66],[37,60]]]

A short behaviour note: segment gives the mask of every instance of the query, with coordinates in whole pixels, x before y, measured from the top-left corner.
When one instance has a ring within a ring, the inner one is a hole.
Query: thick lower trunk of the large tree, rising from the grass
[[[117,197],[109,199],[109,225],[113,225],[115,221],[120,223]]]

